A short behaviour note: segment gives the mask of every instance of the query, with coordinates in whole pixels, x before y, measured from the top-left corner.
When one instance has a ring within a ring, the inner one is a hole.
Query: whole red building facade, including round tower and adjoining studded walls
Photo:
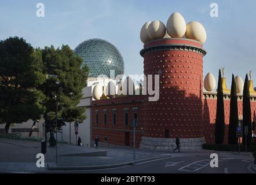
[[[93,101],[92,138],[99,136],[101,142],[132,146],[132,121],[137,117],[137,147],[142,137],[176,135],[213,143],[217,93],[203,92],[203,46],[189,39],[160,39],[144,45],[140,54],[144,57],[144,74],[159,75],[159,100],[150,102],[147,95],[132,95]],[[255,120],[256,97],[251,100]],[[227,142],[229,95],[225,95],[224,103]]]

